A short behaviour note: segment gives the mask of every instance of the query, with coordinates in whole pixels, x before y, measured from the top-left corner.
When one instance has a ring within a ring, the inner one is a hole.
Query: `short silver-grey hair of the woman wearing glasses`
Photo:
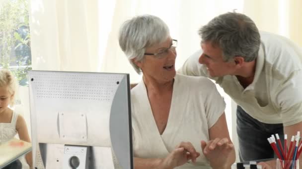
[[[147,47],[164,42],[169,36],[169,28],[160,18],[141,15],[123,23],[119,43],[135,71],[140,74],[141,69],[131,59],[143,61]]]

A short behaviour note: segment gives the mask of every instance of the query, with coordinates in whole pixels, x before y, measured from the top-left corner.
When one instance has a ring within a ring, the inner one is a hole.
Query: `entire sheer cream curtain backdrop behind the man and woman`
[[[178,40],[176,69],[200,48],[198,29],[213,17],[233,11],[250,16],[263,31],[302,45],[301,0],[30,0],[33,70],[130,73],[118,44],[121,24],[135,15],[163,19]],[[219,88],[219,87],[218,87]],[[230,135],[236,144],[235,104],[224,94]],[[231,107],[232,105],[232,107]]]

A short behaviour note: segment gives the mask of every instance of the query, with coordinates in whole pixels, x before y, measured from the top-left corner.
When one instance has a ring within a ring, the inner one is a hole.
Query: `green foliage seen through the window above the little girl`
[[[31,70],[28,0],[5,0],[0,5],[0,66],[10,69],[20,85]]]

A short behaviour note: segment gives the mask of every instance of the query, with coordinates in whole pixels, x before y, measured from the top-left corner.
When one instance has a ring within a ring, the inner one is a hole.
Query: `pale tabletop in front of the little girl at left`
[[[30,151],[31,143],[19,139],[13,138],[7,142],[0,143],[0,169]]]

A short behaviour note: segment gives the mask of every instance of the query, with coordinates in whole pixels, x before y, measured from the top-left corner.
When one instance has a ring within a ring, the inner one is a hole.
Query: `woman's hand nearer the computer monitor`
[[[190,142],[181,142],[162,160],[160,169],[173,169],[184,165],[189,160],[196,162],[196,158],[199,156],[200,153],[196,152],[194,146]]]

